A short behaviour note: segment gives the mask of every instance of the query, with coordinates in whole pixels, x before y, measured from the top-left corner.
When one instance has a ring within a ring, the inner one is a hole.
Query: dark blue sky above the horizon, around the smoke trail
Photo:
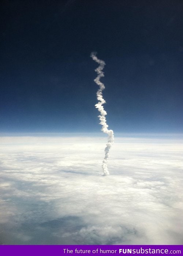
[[[97,132],[92,51],[114,132],[183,131],[183,1],[0,3],[0,131]]]

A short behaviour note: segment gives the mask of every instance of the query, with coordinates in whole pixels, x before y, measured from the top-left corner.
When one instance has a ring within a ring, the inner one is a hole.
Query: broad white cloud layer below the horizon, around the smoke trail
[[[2,244],[182,244],[183,141],[1,137]]]

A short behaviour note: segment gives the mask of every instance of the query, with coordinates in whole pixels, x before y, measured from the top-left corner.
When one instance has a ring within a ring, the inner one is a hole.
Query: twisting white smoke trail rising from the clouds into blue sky
[[[97,77],[94,79],[94,81],[96,82],[97,85],[99,85],[99,89],[97,90],[97,100],[98,103],[95,104],[95,107],[98,108],[98,111],[100,112],[100,115],[98,116],[100,119],[100,125],[102,125],[102,129],[101,131],[103,131],[104,133],[108,134],[108,142],[106,144],[106,148],[105,148],[105,157],[102,163],[102,169],[104,172],[104,176],[109,175],[109,171],[107,168],[107,160],[109,158],[109,149],[111,148],[112,144],[114,143],[114,133],[113,130],[108,130],[108,125],[105,119],[105,115],[107,115],[107,112],[104,110],[104,107],[102,106],[105,103],[105,100],[103,99],[102,96],[102,90],[105,89],[104,84],[102,84],[102,82],[100,82],[100,78],[104,77],[104,72],[102,71],[104,66],[105,66],[105,62],[103,60],[100,60],[97,58],[96,56],[96,52],[91,52],[90,57],[99,64],[99,66],[95,69],[95,71],[97,72]]]

